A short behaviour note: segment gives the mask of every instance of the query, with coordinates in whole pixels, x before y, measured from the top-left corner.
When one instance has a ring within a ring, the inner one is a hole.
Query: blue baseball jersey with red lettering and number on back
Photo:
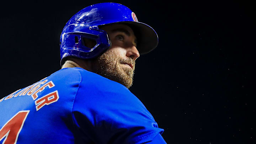
[[[125,86],[81,68],[61,69],[0,100],[0,143],[165,143]]]

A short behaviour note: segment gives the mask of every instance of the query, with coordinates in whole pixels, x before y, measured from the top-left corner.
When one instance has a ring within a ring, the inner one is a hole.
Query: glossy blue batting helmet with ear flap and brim
[[[140,54],[148,53],[158,45],[158,35],[153,28],[138,22],[128,7],[113,2],[95,4],[77,12],[63,28],[60,36],[60,65],[64,64],[67,57],[90,59],[105,52],[111,42],[106,31],[100,30],[98,26],[111,23],[123,23],[133,29]],[[96,41],[96,45],[93,48],[86,47],[83,38]]]

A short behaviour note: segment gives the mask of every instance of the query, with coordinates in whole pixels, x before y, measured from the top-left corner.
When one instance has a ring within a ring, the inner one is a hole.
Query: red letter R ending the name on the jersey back
[[[57,102],[59,100],[58,91],[51,92],[38,100],[35,101],[37,111],[45,105],[49,105],[53,102]]]

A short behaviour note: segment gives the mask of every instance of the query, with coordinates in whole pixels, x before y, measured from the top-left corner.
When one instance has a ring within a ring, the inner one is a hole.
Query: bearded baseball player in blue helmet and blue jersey
[[[62,69],[0,100],[3,144],[165,144],[128,88],[158,36],[117,3],[85,7],[60,36]]]

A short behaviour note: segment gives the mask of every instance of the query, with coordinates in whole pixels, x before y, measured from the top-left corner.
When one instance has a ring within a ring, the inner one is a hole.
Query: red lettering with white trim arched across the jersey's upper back
[[[48,80],[46,80],[46,78],[44,78],[41,81],[38,81],[37,83],[26,87],[25,89],[17,90],[15,92],[13,92],[12,94],[2,98],[0,100],[0,102],[11,99],[13,97],[17,97],[17,96],[31,96],[33,98],[33,100],[35,101],[34,103],[36,105],[36,110],[38,111],[43,106],[49,105],[49,104],[51,104],[53,102],[57,102],[59,100],[59,94],[58,94],[57,90],[38,98],[38,94],[40,94],[43,90],[45,90],[46,87],[48,87],[50,89],[55,86],[52,81],[49,81],[49,82],[47,82],[47,81]]]

